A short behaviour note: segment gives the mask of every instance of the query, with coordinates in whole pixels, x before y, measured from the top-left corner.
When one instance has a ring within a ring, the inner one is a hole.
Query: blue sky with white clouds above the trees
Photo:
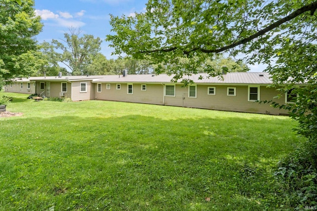
[[[110,15],[133,16],[143,12],[148,0],[35,0],[35,12],[42,17],[43,31],[37,36],[39,42],[51,42],[52,39],[63,39],[68,28],[76,27],[82,34],[93,35],[103,40],[101,53],[106,58],[111,56],[112,48],[106,42],[110,34]],[[250,66],[253,72],[262,72],[263,65]]]

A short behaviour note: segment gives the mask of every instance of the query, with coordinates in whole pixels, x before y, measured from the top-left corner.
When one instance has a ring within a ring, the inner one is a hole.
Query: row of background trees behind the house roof
[[[38,73],[47,75],[63,72],[71,75],[113,75],[121,74],[122,70],[128,70],[129,74],[150,74],[158,68],[150,59],[135,59],[126,56],[118,59],[107,59],[100,53],[102,41],[100,38],[94,38],[92,35],[81,36],[81,30],[70,28],[69,33],[64,34],[64,39],[51,43],[44,42],[40,45],[41,55],[48,61]],[[182,63],[188,63],[184,58]],[[66,72],[65,68],[60,68],[59,63],[70,70]],[[207,59],[206,64],[210,65],[216,71],[221,72],[221,67],[226,66],[231,72],[245,72],[247,67],[244,63],[235,62],[231,58],[224,58],[222,55],[214,59]],[[161,72],[168,72],[165,66],[161,66]],[[203,69],[201,70],[203,72]]]

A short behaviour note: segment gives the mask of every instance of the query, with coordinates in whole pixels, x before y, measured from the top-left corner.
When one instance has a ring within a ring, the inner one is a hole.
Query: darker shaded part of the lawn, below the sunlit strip
[[[91,210],[89,201],[105,210],[263,210],[267,169],[299,141],[279,119],[58,116],[5,123],[2,156],[14,156],[14,168],[27,175],[7,184],[23,180],[32,190],[40,181],[46,193],[58,186],[63,194],[53,192],[46,204],[58,195],[66,200],[55,204],[60,210],[73,202]],[[29,209],[43,203],[41,191],[34,194]]]

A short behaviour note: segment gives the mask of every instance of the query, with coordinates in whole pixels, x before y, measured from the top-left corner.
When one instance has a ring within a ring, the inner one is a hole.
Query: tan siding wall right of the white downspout
[[[215,95],[208,94],[208,87],[215,87]],[[227,96],[227,87],[236,88],[236,96]],[[238,111],[260,114],[287,114],[285,110],[274,109],[270,103],[259,104],[248,101],[248,85],[197,85],[196,98],[188,97],[188,87],[176,85],[175,97],[165,96],[165,105],[204,108],[223,111]],[[260,86],[260,100],[272,100],[279,94],[274,88]],[[282,96],[275,102],[285,103]]]

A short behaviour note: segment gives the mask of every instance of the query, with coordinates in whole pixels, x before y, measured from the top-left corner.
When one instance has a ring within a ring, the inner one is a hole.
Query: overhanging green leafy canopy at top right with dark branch
[[[315,30],[316,8],[313,0],[149,0],[145,13],[111,16],[107,41],[114,54],[150,56],[170,73],[204,67],[212,75],[205,61],[214,53],[252,52],[250,62],[269,62],[282,41]]]

